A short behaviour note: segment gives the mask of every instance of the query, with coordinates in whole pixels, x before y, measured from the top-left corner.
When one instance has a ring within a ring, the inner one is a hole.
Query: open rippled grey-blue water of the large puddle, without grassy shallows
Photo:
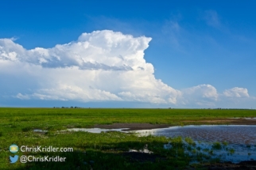
[[[256,145],[255,125],[189,125],[153,130],[134,130],[141,136],[149,134],[175,138],[190,137],[203,142],[228,142],[231,144]]]

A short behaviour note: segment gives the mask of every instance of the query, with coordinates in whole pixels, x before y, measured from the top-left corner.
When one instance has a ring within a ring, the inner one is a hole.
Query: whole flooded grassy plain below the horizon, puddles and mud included
[[[239,109],[1,108],[0,169],[255,169],[255,117]],[[222,126],[176,127],[207,124]],[[31,153],[65,164],[10,164],[13,144],[74,152]]]

